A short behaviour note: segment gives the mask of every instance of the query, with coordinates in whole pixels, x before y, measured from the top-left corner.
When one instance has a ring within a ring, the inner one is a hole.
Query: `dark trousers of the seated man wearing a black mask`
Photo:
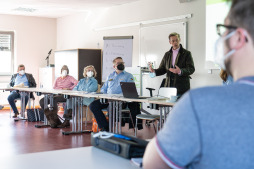
[[[104,128],[104,129],[109,128],[109,124],[106,120],[106,117],[102,112],[102,109],[108,108],[108,105],[109,105],[108,103],[102,104],[100,102],[100,100],[95,100],[89,105],[89,108],[92,111],[92,113],[94,114],[95,119],[99,125],[99,128]],[[135,126],[136,116],[138,114],[140,114],[140,105],[139,105],[139,103],[136,103],[136,102],[130,102],[130,103],[127,103],[127,105],[128,105],[128,108],[130,109],[131,116],[132,116],[134,126]],[[143,128],[142,124],[140,122],[138,122],[138,123],[139,123],[138,129],[142,129]],[[132,125],[129,125],[129,126],[130,126],[130,128],[132,128]]]

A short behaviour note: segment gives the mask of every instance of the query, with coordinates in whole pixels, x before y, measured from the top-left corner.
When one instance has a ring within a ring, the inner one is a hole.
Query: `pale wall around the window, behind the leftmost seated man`
[[[56,19],[0,15],[0,21],[0,31],[15,32],[14,73],[17,72],[17,65],[24,64],[26,72],[32,73],[38,84],[39,67],[46,66],[45,58],[49,50],[56,48]],[[51,56],[50,63],[53,60]],[[9,82],[10,78],[0,77],[0,81]],[[1,98],[1,103],[5,103],[6,97],[1,94]]]

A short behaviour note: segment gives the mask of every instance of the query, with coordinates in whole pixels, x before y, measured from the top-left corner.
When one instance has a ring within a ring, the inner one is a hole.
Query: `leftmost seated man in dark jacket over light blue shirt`
[[[25,73],[25,66],[19,65],[18,66],[18,73],[12,75],[11,81],[10,81],[11,87],[36,87],[36,82],[34,80],[34,77],[32,74]],[[33,97],[33,94],[31,93],[31,96]],[[16,118],[19,114],[18,109],[15,104],[15,99],[20,98],[20,94],[18,91],[14,90],[11,92],[11,94],[8,96],[8,102],[14,112],[13,118]],[[28,102],[28,96],[25,97],[25,106]]]

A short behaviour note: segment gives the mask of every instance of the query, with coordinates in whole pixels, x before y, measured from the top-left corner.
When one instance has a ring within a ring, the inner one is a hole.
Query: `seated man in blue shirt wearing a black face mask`
[[[133,75],[124,71],[124,62],[121,57],[117,57],[113,60],[113,68],[115,71],[108,76],[106,82],[101,88],[101,92],[104,94],[121,94],[122,89],[120,82],[134,82]],[[105,131],[109,130],[109,125],[101,110],[107,107],[108,103],[102,104],[100,100],[95,100],[89,105],[90,110],[93,112],[96,118],[99,128]],[[130,109],[133,121],[136,122],[136,115],[140,114],[139,103],[130,102],[128,103],[128,108]],[[132,127],[131,125],[129,126],[130,128]],[[142,124],[138,124],[138,129],[142,129]]]

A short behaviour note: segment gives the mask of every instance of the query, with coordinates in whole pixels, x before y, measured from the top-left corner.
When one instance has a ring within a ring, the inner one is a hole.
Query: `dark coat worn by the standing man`
[[[190,89],[190,75],[195,72],[193,58],[191,52],[184,49],[180,45],[179,53],[175,60],[175,65],[181,69],[181,75],[174,74],[169,71],[169,68],[172,67],[172,47],[165,53],[160,66],[158,69],[155,69],[156,76],[164,75],[167,73],[166,81],[164,87],[176,87],[177,94],[184,94]],[[170,85],[170,77],[173,79],[173,84]]]

